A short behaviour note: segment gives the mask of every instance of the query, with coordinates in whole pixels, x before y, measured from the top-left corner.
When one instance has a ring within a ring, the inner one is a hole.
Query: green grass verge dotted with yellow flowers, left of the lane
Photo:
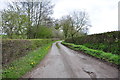
[[[48,53],[51,44],[53,42],[46,44],[45,46],[29,52],[24,57],[13,61],[7,68],[3,69],[3,78],[20,78],[26,72],[30,71],[34,66],[40,63],[44,56]]]

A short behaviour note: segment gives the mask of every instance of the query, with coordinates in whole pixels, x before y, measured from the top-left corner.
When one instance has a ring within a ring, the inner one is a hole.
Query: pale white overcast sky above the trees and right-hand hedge
[[[4,1],[4,0],[3,0]],[[53,17],[56,19],[74,10],[85,10],[92,27],[89,34],[118,30],[119,0],[52,0],[55,4]],[[0,5],[4,4],[0,0]]]

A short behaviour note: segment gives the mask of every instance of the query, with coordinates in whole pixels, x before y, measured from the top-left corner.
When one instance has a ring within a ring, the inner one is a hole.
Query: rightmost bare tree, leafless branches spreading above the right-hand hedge
[[[87,30],[90,25],[89,16],[85,11],[74,11],[72,14],[73,26],[76,29],[75,32],[71,33],[73,37],[77,32]]]

